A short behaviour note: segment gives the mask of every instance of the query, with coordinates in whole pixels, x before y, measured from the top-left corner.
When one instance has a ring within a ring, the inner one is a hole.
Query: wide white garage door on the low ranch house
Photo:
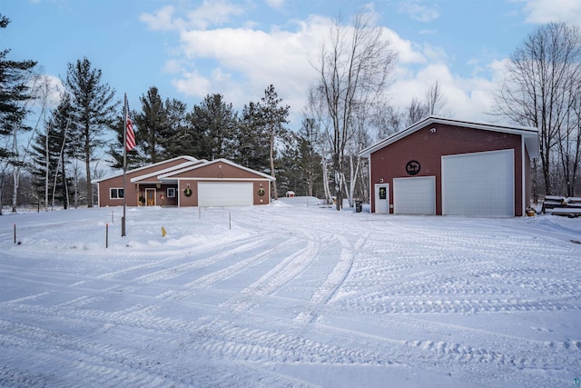
[[[251,182],[199,182],[198,206],[251,206]]]

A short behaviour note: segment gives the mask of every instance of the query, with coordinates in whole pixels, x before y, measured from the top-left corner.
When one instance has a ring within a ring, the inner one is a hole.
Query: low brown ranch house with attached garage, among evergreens
[[[271,203],[274,178],[227,159],[179,156],[127,171],[128,206],[241,206]],[[123,205],[123,173],[93,181],[98,203]]]

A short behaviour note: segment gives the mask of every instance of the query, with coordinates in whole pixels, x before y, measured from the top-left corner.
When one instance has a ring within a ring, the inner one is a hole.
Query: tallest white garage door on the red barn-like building
[[[514,216],[514,151],[442,156],[442,214]]]

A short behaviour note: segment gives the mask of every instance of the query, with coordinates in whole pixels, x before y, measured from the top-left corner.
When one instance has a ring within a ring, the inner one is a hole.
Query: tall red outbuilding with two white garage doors
[[[371,213],[522,216],[537,128],[430,116],[360,152]]]

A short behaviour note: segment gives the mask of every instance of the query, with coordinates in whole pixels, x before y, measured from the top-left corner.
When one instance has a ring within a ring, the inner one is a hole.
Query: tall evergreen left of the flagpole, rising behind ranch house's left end
[[[76,155],[84,160],[88,207],[93,207],[91,163],[96,159],[96,152],[106,145],[103,134],[113,126],[115,117],[115,91],[109,85],[102,84],[101,77],[101,70],[92,68],[85,57],[75,64],[68,64],[65,80],[72,96],[72,134],[77,144]]]

